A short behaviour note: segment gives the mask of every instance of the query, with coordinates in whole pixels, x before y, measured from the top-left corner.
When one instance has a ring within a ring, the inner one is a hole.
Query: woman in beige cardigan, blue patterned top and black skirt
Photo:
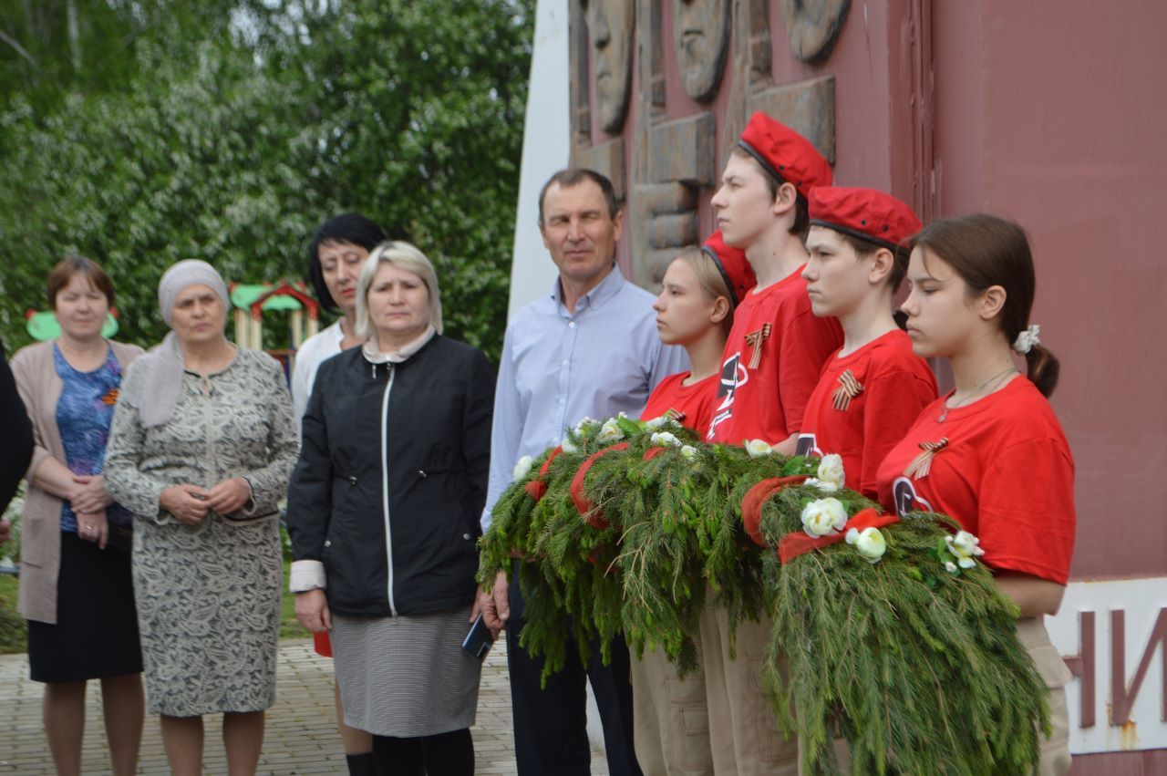
[[[26,475],[19,610],[32,678],[46,683],[44,730],[58,774],[81,774],[85,687],[102,681],[112,771],[133,774],[142,658],[130,571],[132,516],[105,491],[105,445],[121,372],[141,348],[102,337],[113,284],[70,257],[48,279],[61,336],[12,359],[35,447]]]

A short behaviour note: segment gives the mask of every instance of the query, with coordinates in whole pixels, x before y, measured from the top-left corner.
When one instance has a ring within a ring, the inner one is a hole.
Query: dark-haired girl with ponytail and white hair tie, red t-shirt
[[[1057,613],[1069,576],[1074,459],[1047,401],[1058,362],[1029,326],[1029,244],[1020,226],[986,215],[938,221],[911,244],[908,335],[917,355],[949,359],[956,389],[883,460],[880,501],[901,515],[949,515],[979,538],[980,560],[1020,608],[1018,636],[1050,687],[1041,774],[1065,774],[1070,673],[1043,618]]]

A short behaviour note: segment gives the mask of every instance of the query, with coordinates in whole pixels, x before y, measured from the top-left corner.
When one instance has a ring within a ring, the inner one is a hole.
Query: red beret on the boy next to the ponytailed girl
[[[890,194],[846,187],[811,191],[810,223],[892,251],[923,226],[911,208]]]

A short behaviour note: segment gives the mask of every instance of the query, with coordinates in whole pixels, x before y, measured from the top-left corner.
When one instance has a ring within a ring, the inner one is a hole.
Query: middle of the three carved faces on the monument
[[[685,92],[696,100],[712,99],[729,48],[729,1],[672,0],[672,42]]]

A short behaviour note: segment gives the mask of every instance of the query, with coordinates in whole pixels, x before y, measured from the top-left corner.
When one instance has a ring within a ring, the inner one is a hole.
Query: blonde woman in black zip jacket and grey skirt
[[[331,630],[344,721],[373,735],[378,772],[474,771],[481,664],[461,643],[495,376],[441,329],[429,260],[378,246],[357,281],[368,342],[320,365],[288,490],[296,616]]]

